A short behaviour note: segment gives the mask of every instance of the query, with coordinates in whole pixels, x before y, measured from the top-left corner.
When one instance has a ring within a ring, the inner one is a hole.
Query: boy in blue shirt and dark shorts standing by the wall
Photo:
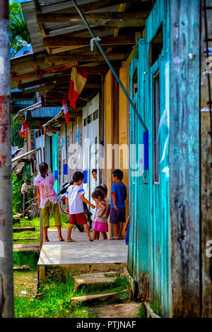
[[[122,170],[112,172],[110,223],[113,225],[114,237],[111,239],[122,239],[123,223],[125,219],[126,186],[122,182],[124,174]]]

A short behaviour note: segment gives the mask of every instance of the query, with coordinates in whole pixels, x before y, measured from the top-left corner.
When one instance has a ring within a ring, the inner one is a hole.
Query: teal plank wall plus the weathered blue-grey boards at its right
[[[151,62],[151,42],[161,27],[163,48]],[[153,79],[158,71],[160,164],[155,183]],[[149,169],[146,181],[134,176],[143,129],[131,109],[130,143],[136,150],[130,151],[129,271],[139,297],[160,316],[199,316],[199,0],[155,1],[139,55],[131,62],[130,90],[148,129]]]

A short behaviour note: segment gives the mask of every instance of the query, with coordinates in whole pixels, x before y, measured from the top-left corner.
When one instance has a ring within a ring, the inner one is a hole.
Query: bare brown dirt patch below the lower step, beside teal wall
[[[141,303],[125,302],[120,304],[109,304],[98,307],[99,318],[136,318],[139,314]]]

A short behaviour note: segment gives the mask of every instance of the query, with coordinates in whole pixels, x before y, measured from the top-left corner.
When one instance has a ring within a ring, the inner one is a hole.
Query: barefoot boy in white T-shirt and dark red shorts
[[[86,199],[85,191],[82,187],[84,174],[82,172],[75,172],[73,174],[73,185],[69,186],[66,191],[66,212],[70,214],[70,224],[67,232],[66,242],[76,242],[71,239],[71,230],[74,224],[83,225],[88,235],[89,241],[93,241],[90,237],[86,215],[83,209],[83,202],[87,203],[91,208],[95,206]]]

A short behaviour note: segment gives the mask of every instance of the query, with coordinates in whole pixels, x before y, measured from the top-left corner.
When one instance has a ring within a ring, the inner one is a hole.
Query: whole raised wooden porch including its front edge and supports
[[[66,239],[67,229],[62,230]],[[90,232],[92,234],[92,231]],[[49,242],[44,242],[37,263],[39,280],[48,270],[71,271],[74,274],[120,271],[126,266],[128,246],[124,239],[89,242],[86,232],[73,231],[76,242],[59,242],[56,229],[49,229]]]

